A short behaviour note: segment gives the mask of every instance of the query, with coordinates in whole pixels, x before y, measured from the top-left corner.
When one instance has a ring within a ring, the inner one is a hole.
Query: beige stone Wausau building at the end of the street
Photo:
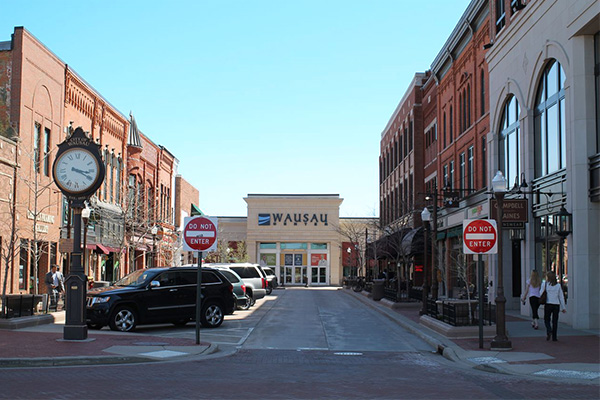
[[[244,200],[247,217],[219,217],[219,236],[245,241],[248,261],[271,267],[280,284],[341,285],[345,226],[367,222],[340,218],[339,195],[249,194]],[[354,247],[364,249],[364,239],[361,234]]]

